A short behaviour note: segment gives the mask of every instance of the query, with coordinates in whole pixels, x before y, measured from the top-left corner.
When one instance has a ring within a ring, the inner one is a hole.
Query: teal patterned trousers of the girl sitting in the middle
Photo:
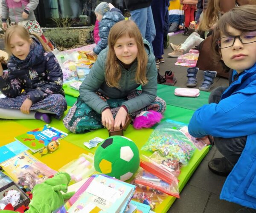
[[[141,93],[142,93],[141,90],[136,90],[131,94],[129,94],[126,98],[113,99],[113,98],[108,98],[107,96],[102,95],[99,92],[96,92],[96,94],[99,95],[100,98],[102,98],[104,101],[108,103],[114,118],[118,110],[122,106],[123,102],[131,98],[134,98],[140,95]],[[136,115],[146,110],[154,110],[163,114],[164,111],[166,110],[166,102],[162,98],[156,97],[156,99],[152,104],[136,112],[130,113],[130,116],[132,119],[134,119]],[[64,123],[64,126],[68,130],[70,130],[70,132],[73,132],[76,134],[86,133],[91,130],[104,128],[104,126],[102,125],[101,114],[95,112],[92,108],[90,108],[87,104],[85,104],[84,101],[80,98],[80,96],[77,98],[76,103],[73,105],[73,107],[70,108],[68,114],[63,119],[63,123]]]

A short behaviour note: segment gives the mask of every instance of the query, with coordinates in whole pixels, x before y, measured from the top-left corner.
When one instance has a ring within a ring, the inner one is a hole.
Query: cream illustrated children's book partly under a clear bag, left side
[[[1,167],[16,183],[21,181],[22,177],[23,179],[33,178],[33,181],[30,181],[31,183],[39,183],[56,173],[55,170],[43,164],[27,151],[4,161]]]

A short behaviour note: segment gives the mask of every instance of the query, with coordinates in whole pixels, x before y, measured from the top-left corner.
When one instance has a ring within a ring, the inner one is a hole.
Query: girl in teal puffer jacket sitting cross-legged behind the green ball
[[[137,90],[140,85],[142,90]],[[108,47],[99,54],[79,92],[63,120],[74,133],[103,127],[119,130],[128,113],[132,118],[149,109],[163,114],[166,103],[156,96],[155,57],[133,21],[123,20],[111,28]]]

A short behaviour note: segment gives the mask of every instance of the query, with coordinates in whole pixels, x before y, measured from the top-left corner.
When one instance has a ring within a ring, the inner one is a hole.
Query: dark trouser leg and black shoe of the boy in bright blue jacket
[[[227,86],[219,86],[212,90],[209,96],[209,104],[218,104],[222,93],[226,89]],[[224,155],[224,158],[215,158],[209,161],[209,169],[222,176],[228,175],[244,150],[246,139],[247,136],[237,138],[214,137],[214,144],[219,152]]]

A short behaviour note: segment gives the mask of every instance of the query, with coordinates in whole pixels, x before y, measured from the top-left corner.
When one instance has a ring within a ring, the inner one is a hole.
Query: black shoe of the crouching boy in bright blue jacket
[[[233,169],[233,165],[227,158],[214,158],[208,163],[209,170],[220,176],[228,176]]]

